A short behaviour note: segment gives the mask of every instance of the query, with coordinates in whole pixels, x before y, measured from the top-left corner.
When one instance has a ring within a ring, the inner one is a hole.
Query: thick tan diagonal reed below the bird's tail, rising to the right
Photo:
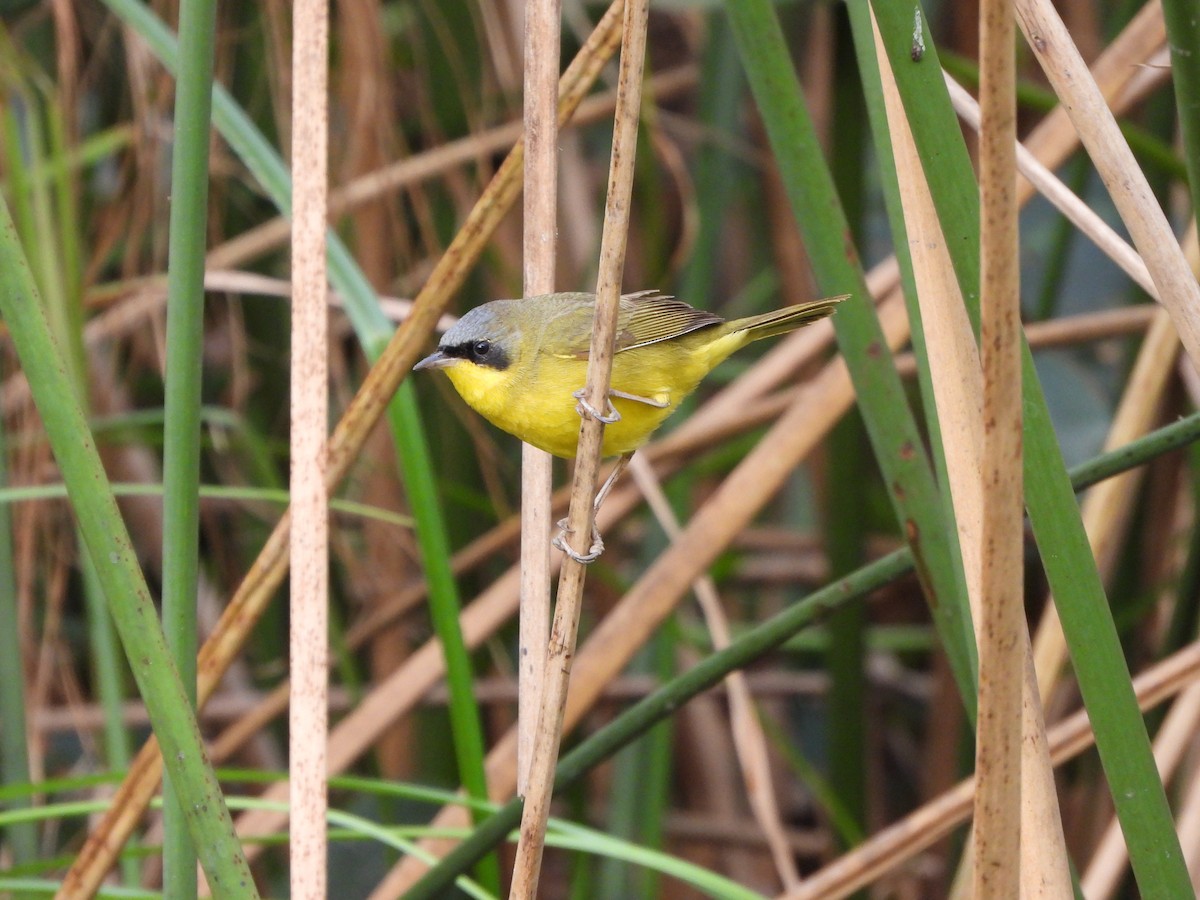
[[[880,324],[889,349],[908,337],[904,301],[894,293],[880,305]],[[604,692],[604,686],[629,662],[662,619],[676,607],[696,577],[762,506],[774,498],[780,484],[850,409],[853,388],[845,362],[827,364],[794,398],[770,431],[726,478],[688,523],[679,542],[668,547],[642,575],[612,611],[599,623],[576,654],[571,692],[563,722],[574,727]],[[611,496],[601,514],[616,499]],[[487,757],[487,784],[493,799],[512,791],[515,738],[506,736]],[[461,809],[448,808],[432,826],[463,827]],[[433,853],[444,853],[452,841],[424,841]],[[380,883],[372,900],[402,894],[426,866],[415,858],[401,860]]]

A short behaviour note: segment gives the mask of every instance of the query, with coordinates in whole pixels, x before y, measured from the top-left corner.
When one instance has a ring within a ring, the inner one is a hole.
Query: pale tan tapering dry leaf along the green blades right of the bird
[[[882,47],[878,46],[878,40],[876,30],[876,55],[880,59],[893,152],[900,178],[901,205],[905,212],[913,274],[919,288],[922,326],[925,330],[925,346],[934,376],[931,380],[935,404],[942,426],[942,444],[967,581],[967,594],[971,600],[972,618],[976,622],[982,622],[984,617],[983,598],[986,593],[983,580],[984,533],[982,529],[985,516],[985,492],[979,478],[985,464],[983,460],[983,368],[974,332],[967,318],[958,278],[941,232],[937,211],[934,209],[932,198],[925,182],[922,162],[895,90],[888,58]],[[1008,178],[1007,184],[1012,188],[1015,174],[1009,173]],[[1016,402],[1020,402],[1019,391]],[[1020,462],[1019,456],[1016,462]],[[1015,487],[1013,490],[1018,503],[1020,503],[1022,498],[1020,490]],[[1018,517],[1019,521],[1024,518],[1024,506],[1018,511]],[[1020,608],[1020,604],[1018,607]],[[1013,666],[1012,672],[1019,683],[1018,696],[1009,697],[1009,701],[1015,700],[1020,704],[1021,713],[1016,715],[1010,709],[1010,718],[1007,720],[1008,725],[1012,725],[1014,720],[1019,721],[1025,736],[1024,742],[1018,742],[1018,751],[1024,752],[1025,757],[1016,769],[1024,784],[1019,792],[1014,792],[1024,799],[1021,829],[1022,844],[1026,845],[1024,852],[1027,853],[1027,858],[1020,868],[1020,874],[1028,878],[1031,886],[1033,883],[1045,884],[1052,895],[1055,890],[1069,890],[1070,875],[1066,865],[1066,850],[1057,794],[1054,790],[1054,774],[1050,770],[1045,725],[1040,706],[1037,703],[1037,684],[1033,682],[1032,665],[1025,661],[1031,650],[1028,634],[1024,625],[1024,610],[1021,610],[1021,616],[1016,635],[1021,661]],[[1008,774],[1013,775],[1014,773],[1010,770]],[[1015,858],[1015,853],[1009,857],[1009,859],[1012,858]],[[964,865],[970,865],[970,857],[965,857]],[[1031,895],[1036,895],[1036,893]]]

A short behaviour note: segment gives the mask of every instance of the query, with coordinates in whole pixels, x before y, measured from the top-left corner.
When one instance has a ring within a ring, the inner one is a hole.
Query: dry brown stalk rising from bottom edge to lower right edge
[[[1138,704],[1142,710],[1153,709],[1198,678],[1200,643],[1192,643],[1134,678]],[[1049,738],[1055,766],[1079,756],[1094,740],[1087,712],[1081,709],[1052,726]],[[974,779],[959,782],[811,875],[800,890],[786,895],[787,900],[836,900],[874,883],[970,818],[973,794]]]

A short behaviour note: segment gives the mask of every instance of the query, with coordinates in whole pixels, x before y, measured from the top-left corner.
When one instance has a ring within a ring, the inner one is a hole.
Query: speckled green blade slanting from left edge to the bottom
[[[209,882],[218,896],[257,896],[187,696],[167,653],[137,553],[50,337],[6,205],[0,206],[0,314],[11,331],[113,622],[162,742],[164,764],[187,798],[188,829]]]

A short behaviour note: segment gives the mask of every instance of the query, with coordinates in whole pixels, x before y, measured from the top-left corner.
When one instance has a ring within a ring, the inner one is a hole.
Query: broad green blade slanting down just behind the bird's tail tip
[[[726,11],[817,281],[826,293],[854,294],[834,316],[838,346],[850,367],[900,530],[918,560],[959,692],[973,719],[978,662],[955,529],[943,514],[942,496],[892,355],[882,349],[887,344],[775,8],[769,0],[738,0],[727,2]]]

